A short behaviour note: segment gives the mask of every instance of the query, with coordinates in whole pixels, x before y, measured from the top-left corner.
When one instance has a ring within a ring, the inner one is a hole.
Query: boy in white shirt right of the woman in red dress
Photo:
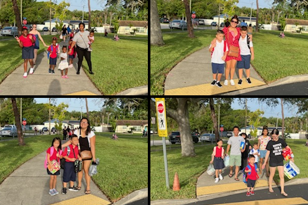
[[[254,52],[254,47],[253,47],[253,42],[249,40],[247,36],[247,27],[242,26],[241,27],[241,37],[239,39],[239,46],[241,50],[241,57],[242,60],[238,61],[237,63],[237,68],[239,69],[239,83],[238,85],[242,85],[242,75],[243,75],[243,68],[246,69],[246,81],[248,84],[251,84],[250,80],[250,61],[251,59],[255,59],[255,52]]]

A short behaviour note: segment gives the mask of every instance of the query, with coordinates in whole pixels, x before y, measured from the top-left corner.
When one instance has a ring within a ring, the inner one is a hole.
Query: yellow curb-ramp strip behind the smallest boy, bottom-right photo
[[[273,183],[272,185],[275,185]],[[268,182],[267,180],[260,179],[256,182],[256,187],[267,187]],[[237,191],[241,189],[247,189],[247,185],[242,183],[225,183],[222,185],[215,185],[215,186],[208,186],[208,187],[197,187],[197,196],[205,195],[205,194],[216,194],[222,192],[229,192],[229,191]]]

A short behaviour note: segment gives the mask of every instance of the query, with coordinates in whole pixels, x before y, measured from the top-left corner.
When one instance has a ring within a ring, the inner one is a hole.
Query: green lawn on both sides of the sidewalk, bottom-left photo
[[[103,193],[114,201],[135,190],[146,188],[148,186],[147,138],[141,138],[139,134],[118,134],[119,140],[112,140],[112,133],[96,133],[96,135],[96,157],[100,158],[100,165],[98,174],[92,179]],[[0,141],[0,183],[24,162],[46,151],[56,136],[62,138],[61,135],[25,138],[24,147],[18,146],[17,139]]]

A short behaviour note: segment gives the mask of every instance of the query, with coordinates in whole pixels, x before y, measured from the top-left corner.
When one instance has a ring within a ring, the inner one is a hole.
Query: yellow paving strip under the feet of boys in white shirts
[[[252,84],[248,84],[246,80],[243,78],[243,83],[239,86],[238,79],[234,79],[235,86],[230,85],[230,81],[228,80],[228,86],[223,85],[223,81],[221,81],[222,88],[218,88],[217,86],[211,86],[210,84],[203,84],[198,86],[190,86],[186,88],[177,88],[171,90],[165,90],[165,95],[216,95],[226,92],[231,92],[235,90],[241,90],[244,88],[252,88],[256,86],[266,85],[260,80],[251,77]]]

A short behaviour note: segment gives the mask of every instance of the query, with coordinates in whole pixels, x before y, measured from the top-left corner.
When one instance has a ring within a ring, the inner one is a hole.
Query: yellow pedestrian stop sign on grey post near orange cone
[[[158,136],[163,138],[166,187],[167,189],[169,189],[169,175],[168,175],[168,163],[167,163],[167,151],[166,151],[166,137],[168,136],[168,132],[167,132],[165,98],[155,98],[155,102],[156,102]]]

